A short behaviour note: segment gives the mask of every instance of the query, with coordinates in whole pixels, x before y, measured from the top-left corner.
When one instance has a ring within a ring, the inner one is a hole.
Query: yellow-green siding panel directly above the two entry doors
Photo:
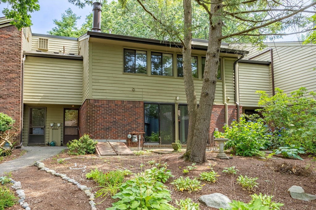
[[[27,56],[24,103],[82,104],[82,60]]]

